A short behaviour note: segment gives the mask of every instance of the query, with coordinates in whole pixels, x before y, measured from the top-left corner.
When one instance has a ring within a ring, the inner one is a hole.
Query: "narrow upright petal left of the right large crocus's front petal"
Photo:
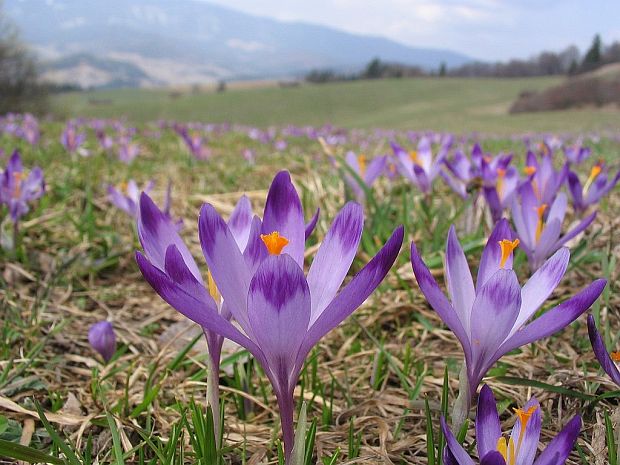
[[[467,258],[465,258],[465,253],[456,237],[454,225],[450,227],[450,232],[448,232],[445,267],[446,284],[452,308],[456,311],[465,333],[469,334],[471,310],[476,298],[476,290]]]

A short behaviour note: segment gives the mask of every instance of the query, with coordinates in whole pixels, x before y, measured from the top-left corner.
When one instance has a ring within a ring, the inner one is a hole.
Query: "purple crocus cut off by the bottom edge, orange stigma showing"
[[[540,405],[536,398],[532,397],[523,409],[515,409],[515,413],[517,422],[506,440],[502,435],[493,391],[486,385],[482,386],[476,415],[476,442],[480,464],[563,465],[579,436],[581,417],[575,415],[536,458],[542,427]],[[446,465],[475,465],[443,417],[441,428],[447,443],[444,452]]]

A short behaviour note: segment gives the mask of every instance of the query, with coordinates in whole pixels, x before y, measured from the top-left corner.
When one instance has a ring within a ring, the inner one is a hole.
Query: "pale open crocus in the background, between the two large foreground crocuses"
[[[427,137],[422,137],[418,142],[418,149],[409,153],[395,142],[391,143],[392,150],[398,161],[401,174],[425,194],[431,192],[433,180],[441,170],[451,139],[447,139],[439,149],[437,157],[433,159],[431,141]]]

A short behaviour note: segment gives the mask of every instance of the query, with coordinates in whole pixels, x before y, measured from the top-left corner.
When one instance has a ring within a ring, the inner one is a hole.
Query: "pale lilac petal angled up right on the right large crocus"
[[[532,275],[521,289],[521,311],[515,322],[513,334],[534,315],[545,303],[566,273],[570,252],[567,248],[558,250],[542,267]]]

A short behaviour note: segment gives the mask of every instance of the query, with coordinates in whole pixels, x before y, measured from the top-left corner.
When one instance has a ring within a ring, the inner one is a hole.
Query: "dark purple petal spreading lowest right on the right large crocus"
[[[496,357],[499,358],[517,347],[551,336],[568,326],[590,308],[601,295],[606,284],[607,281],[605,279],[597,279],[579,294],[545,312],[545,314],[517,331],[502,344],[497,351]]]

